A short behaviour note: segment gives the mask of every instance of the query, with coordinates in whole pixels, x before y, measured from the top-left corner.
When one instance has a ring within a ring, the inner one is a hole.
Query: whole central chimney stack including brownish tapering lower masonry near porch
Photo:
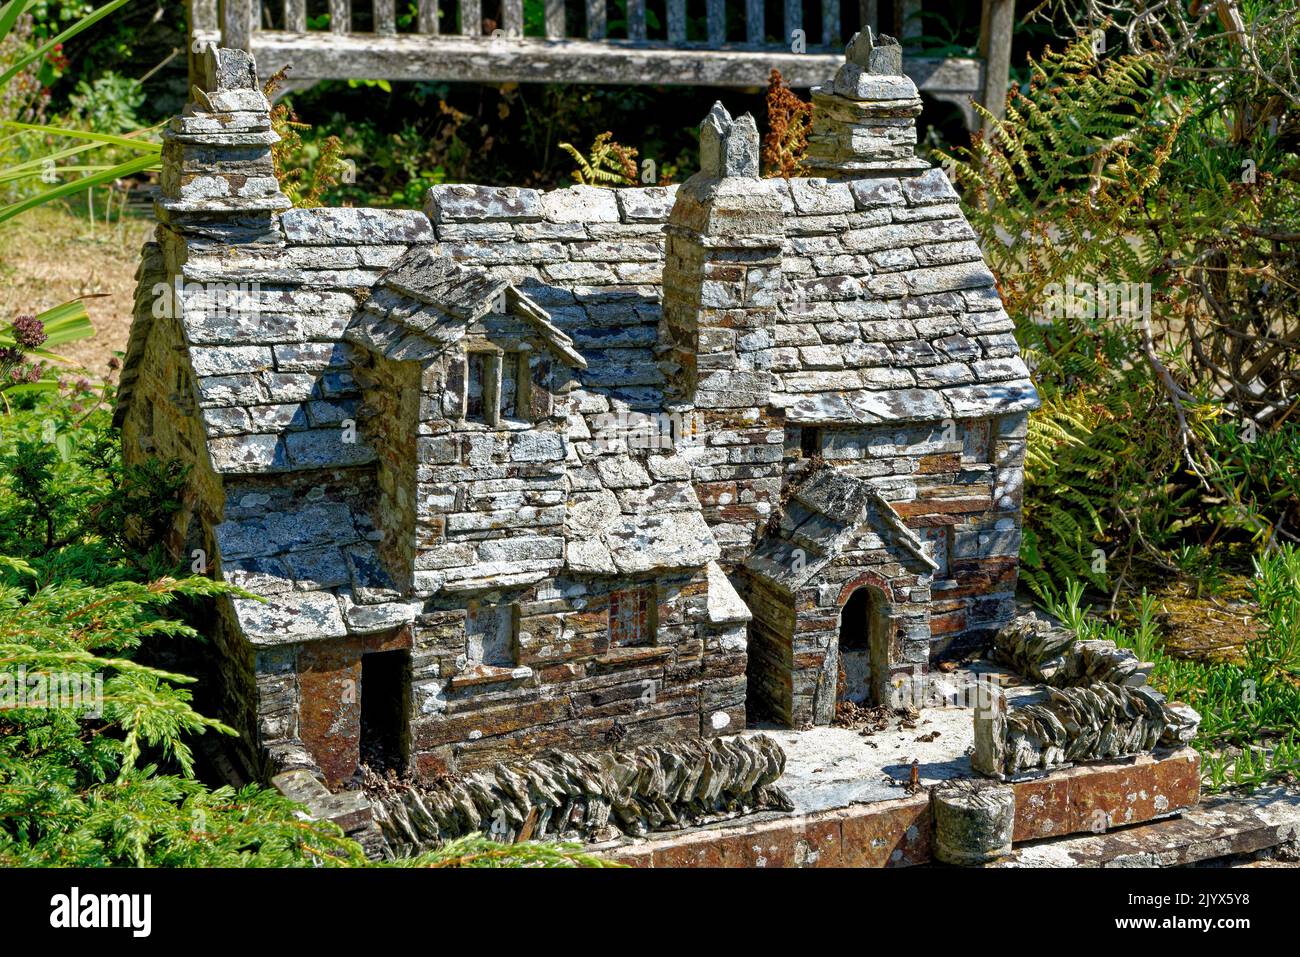
[[[690,463],[723,563],[748,554],[780,498],[784,417],[770,407],[784,215],[758,176],[758,127],[715,104],[699,126],[699,172],[667,225],[660,369],[668,411],[689,421]]]

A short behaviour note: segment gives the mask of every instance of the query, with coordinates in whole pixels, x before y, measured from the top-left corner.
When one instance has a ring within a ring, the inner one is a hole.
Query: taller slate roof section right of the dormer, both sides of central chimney
[[[936,421],[1036,407],[1011,319],[942,170],[771,181],[785,280],[767,359],[794,423]],[[441,186],[439,251],[508,277],[589,360],[593,390],[662,403],[662,228],[676,187]]]

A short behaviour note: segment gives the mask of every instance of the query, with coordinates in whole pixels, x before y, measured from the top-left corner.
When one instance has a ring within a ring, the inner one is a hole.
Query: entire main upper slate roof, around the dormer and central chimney
[[[790,421],[983,417],[1036,406],[1011,320],[941,170],[774,187],[786,211],[785,295],[766,359],[777,378],[774,402]],[[285,247],[191,242],[185,282],[238,276],[256,285],[225,312],[213,315],[207,293],[187,294],[181,311],[213,467],[257,473],[370,462],[364,442],[338,441],[337,421],[356,399],[344,330],[359,294],[381,277],[374,308],[399,289],[436,298],[428,276],[408,276],[429,257],[484,270],[473,281],[450,267],[445,274],[468,283],[458,295],[473,308],[512,286],[521,311],[554,329],[556,347],[585,359],[578,378],[592,393],[616,408],[660,408],[663,224],[675,194],[441,186],[430,190],[429,218],[291,209],[280,217]],[[122,402],[144,325],[133,330]]]

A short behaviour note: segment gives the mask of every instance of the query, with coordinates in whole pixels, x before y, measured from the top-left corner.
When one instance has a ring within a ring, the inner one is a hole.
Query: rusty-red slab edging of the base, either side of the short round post
[[[1183,749],[1017,781],[1017,843],[1167,817],[1200,797],[1200,758]],[[931,859],[930,794],[653,835],[603,850],[638,867],[905,867]]]

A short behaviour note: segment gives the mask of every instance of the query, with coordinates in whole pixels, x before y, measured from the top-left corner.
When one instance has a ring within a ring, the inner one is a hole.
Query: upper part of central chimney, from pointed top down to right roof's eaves
[[[780,196],[758,176],[758,126],[722,103],[699,125],[699,172],[668,216],[660,369],[668,398],[701,408],[766,406],[781,287]],[[762,342],[762,345],[759,345]]]

